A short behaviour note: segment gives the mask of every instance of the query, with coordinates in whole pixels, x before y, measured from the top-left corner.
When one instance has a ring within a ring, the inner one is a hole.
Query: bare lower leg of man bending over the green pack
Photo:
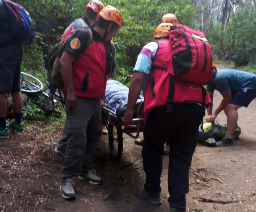
[[[233,133],[235,128],[237,128],[237,120],[238,120],[238,113],[237,110],[241,106],[228,104],[224,109],[224,112],[227,116],[227,134],[226,136],[230,139],[233,139]]]

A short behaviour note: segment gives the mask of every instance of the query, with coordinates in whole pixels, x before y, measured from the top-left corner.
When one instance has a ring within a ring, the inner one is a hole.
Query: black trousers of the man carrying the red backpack
[[[165,105],[157,107],[145,121],[142,149],[145,190],[151,195],[161,192],[164,142],[170,137],[168,202],[170,206],[183,212],[186,209],[185,194],[189,191],[189,168],[204,114],[197,103],[175,103],[172,109],[172,113],[167,115]]]

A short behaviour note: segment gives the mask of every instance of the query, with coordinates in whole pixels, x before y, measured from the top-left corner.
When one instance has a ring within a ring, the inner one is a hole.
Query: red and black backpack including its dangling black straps
[[[167,67],[152,66],[152,69],[166,71],[168,75],[162,75],[161,80],[169,77],[168,98],[166,112],[172,112],[174,103],[174,88],[176,78],[189,83],[201,85],[202,89],[202,112],[205,114],[206,89],[202,86],[212,79],[212,50],[210,44],[202,32],[193,30],[187,26],[178,24],[172,26],[169,32],[171,47],[170,61]],[[150,88],[154,96],[153,73],[150,74]],[[159,79],[160,82],[160,79]],[[202,120],[203,123],[203,120]],[[203,124],[202,124],[203,125]]]

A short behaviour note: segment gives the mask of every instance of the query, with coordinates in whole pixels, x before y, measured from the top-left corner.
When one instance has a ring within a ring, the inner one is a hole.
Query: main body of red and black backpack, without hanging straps
[[[207,84],[212,79],[212,50],[202,32],[182,24],[169,32],[172,62],[168,72],[185,81]]]

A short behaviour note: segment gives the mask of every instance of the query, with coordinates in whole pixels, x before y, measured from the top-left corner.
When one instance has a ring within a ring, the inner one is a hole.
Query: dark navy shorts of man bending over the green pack
[[[256,89],[248,89],[246,92],[238,90],[232,93],[232,99],[229,104],[248,107],[250,102],[256,98]]]

